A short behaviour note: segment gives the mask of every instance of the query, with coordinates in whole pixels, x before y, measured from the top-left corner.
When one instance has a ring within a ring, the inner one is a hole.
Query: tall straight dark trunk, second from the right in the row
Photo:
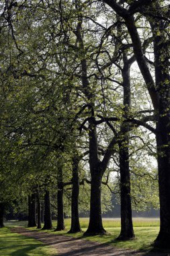
[[[130,65],[124,53],[124,68],[122,69],[123,88],[124,88],[124,115],[128,118],[130,108]],[[121,232],[119,240],[134,238],[132,224],[132,205],[130,198],[130,170],[129,170],[129,124],[123,121],[121,127],[121,140],[119,143],[120,155],[120,202],[121,202]]]

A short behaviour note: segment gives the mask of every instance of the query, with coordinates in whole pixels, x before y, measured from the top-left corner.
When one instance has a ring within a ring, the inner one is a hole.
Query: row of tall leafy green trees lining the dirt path
[[[168,1],[4,1],[0,22],[1,205],[24,191],[32,226],[36,197],[40,228],[43,187],[51,228],[50,187],[60,230],[66,188],[77,232],[90,185],[85,234],[105,234],[105,186],[121,203],[118,238],[131,239],[132,207],[158,205],[158,166],[155,246],[169,247]]]

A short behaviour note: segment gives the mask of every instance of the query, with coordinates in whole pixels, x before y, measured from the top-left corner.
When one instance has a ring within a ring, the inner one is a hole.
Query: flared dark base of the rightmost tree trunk
[[[155,249],[170,249],[170,234],[159,232],[159,235],[153,245]]]

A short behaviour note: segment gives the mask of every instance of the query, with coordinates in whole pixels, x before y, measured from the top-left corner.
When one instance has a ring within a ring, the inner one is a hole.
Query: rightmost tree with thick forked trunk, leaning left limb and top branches
[[[125,1],[126,2],[126,1]],[[144,77],[148,92],[157,113],[157,160],[159,168],[159,195],[160,195],[160,232],[155,241],[155,246],[169,248],[170,240],[170,203],[169,203],[169,62],[167,57],[168,41],[167,9],[159,1],[134,1],[128,9],[122,7],[116,1],[104,0],[120,15],[126,24],[130,34],[134,55]],[[142,51],[140,34],[135,25],[134,14],[140,12],[143,15],[151,14],[151,27],[153,32],[155,54],[155,82],[148,69],[146,59]]]

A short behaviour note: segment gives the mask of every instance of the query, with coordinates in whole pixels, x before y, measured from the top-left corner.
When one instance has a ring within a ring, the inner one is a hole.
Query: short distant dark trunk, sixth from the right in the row
[[[44,207],[45,207],[45,215],[44,215],[44,226],[42,229],[51,229],[52,220],[51,220],[51,208],[50,208],[50,192],[48,190],[45,191],[45,195],[44,195]]]

